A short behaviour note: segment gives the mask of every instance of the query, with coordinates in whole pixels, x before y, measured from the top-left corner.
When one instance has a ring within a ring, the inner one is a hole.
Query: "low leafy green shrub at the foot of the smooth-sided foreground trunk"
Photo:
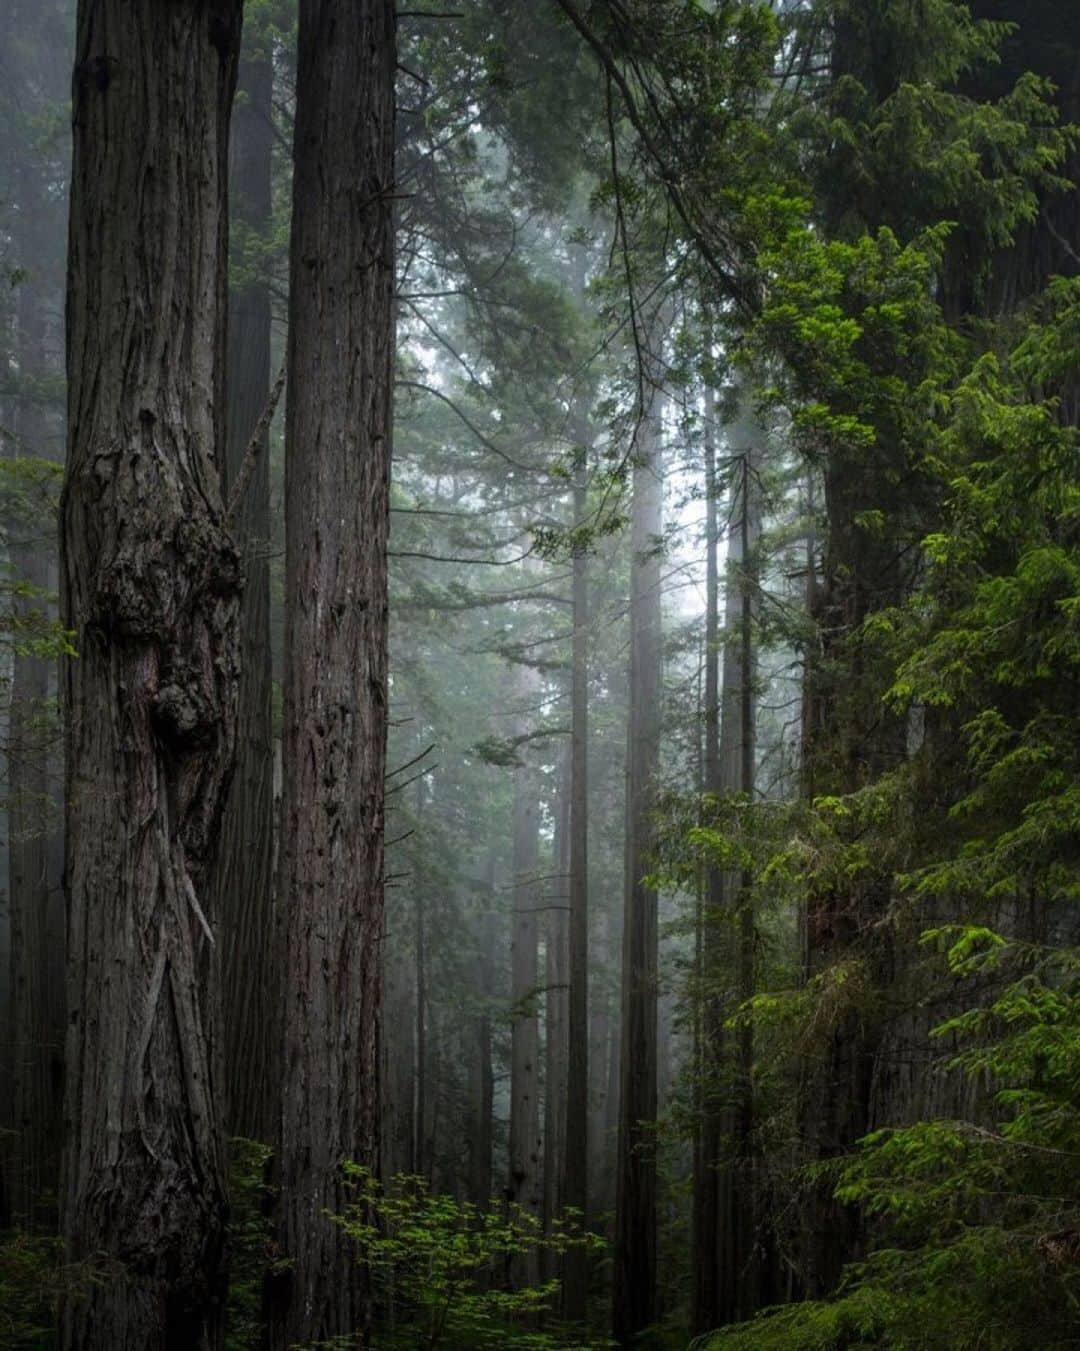
[[[488,1209],[435,1194],[423,1178],[396,1177],[384,1189],[357,1165],[347,1173],[355,1200],[335,1216],[354,1242],[377,1313],[376,1347],[584,1347],[580,1335],[549,1323],[557,1281],[514,1288],[510,1266],[526,1254],[560,1256],[593,1248],[573,1216],[545,1233],[516,1205]],[[597,1344],[597,1343],[592,1343]],[[602,1344],[602,1343],[600,1343]]]

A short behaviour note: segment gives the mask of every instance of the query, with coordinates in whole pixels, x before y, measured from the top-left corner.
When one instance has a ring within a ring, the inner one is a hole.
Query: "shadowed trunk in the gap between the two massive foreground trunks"
[[[242,59],[232,118],[230,196],[232,219],[265,238],[270,230],[273,65],[269,55]],[[230,292],[226,480],[241,480],[247,444],[270,388],[270,292],[265,277],[245,276]],[[270,670],[270,466],[258,447],[242,488],[234,527],[243,553],[242,677],[237,767],[222,820],[214,875],[220,915],[223,1029],[228,1129],[273,1138],[281,1006],[273,904],[273,715]]]

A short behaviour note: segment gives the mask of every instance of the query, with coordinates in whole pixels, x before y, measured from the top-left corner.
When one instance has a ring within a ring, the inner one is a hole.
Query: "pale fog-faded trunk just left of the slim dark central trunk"
[[[523,705],[535,701],[535,671],[520,669]],[[527,715],[524,715],[527,716]],[[524,751],[523,754],[527,754]],[[539,1019],[538,955],[539,913],[537,898],[537,784],[526,763],[514,773],[514,936],[511,942],[510,1029],[510,1177],[507,1196],[537,1219],[542,1213],[539,1138]],[[535,1252],[514,1262],[518,1285],[535,1285],[539,1267]]]

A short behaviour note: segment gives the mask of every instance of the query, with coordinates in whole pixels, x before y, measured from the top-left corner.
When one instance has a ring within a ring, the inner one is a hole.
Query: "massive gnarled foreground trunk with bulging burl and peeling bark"
[[[62,605],[69,1348],[216,1344],[224,1161],[204,880],[237,711],[218,481],[239,0],[80,0]],[[208,916],[214,924],[214,915]]]

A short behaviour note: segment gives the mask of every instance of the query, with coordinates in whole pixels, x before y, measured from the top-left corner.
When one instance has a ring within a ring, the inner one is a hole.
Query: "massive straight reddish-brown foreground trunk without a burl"
[[[273,1346],[355,1332],[342,1166],[378,1167],[393,369],[391,0],[301,0],[288,409],[281,1248]]]

